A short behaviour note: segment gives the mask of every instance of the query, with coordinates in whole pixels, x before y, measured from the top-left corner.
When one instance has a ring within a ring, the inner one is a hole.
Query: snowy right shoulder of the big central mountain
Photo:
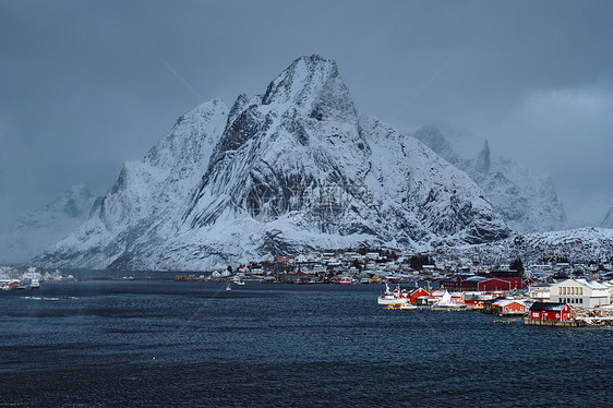
[[[368,184],[385,224],[396,223],[393,230],[407,229],[411,240],[435,245],[484,242],[507,235],[483,191],[466,173],[414,137],[374,118],[362,125],[373,152],[370,176],[376,179]]]

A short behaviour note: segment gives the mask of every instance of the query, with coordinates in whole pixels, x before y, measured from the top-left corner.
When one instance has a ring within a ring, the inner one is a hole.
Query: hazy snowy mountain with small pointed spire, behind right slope
[[[466,171],[513,230],[538,232],[565,228],[566,214],[550,177],[534,175],[504,157],[493,159],[486,141],[477,157],[462,158],[434,127],[422,128],[413,136]]]

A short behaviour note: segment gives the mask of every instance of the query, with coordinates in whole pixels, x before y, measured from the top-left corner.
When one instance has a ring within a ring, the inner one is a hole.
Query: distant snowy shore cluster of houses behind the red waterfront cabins
[[[269,257],[262,262],[228,266],[213,278],[238,275],[279,283],[441,283],[450,291],[515,290],[532,284],[553,284],[567,277],[613,279],[613,264],[570,264],[568,262],[533,263],[517,274],[510,264],[483,265],[477,260],[435,261],[429,254],[416,254],[387,248],[361,248],[322,251]],[[513,279],[506,279],[513,277]],[[271,279],[272,278],[272,279]]]

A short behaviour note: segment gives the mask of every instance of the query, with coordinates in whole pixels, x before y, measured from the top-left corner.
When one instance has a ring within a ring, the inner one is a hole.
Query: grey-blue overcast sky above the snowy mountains
[[[0,0],[0,211],[74,183],[104,194],[201,103],[168,64],[231,105],[320,53],[360,113],[488,139],[553,177],[574,225],[599,224],[613,206],[612,16],[611,1]]]

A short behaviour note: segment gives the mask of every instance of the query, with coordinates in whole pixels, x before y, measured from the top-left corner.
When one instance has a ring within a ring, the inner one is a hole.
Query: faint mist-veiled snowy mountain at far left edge
[[[68,237],[89,216],[95,197],[83,184],[22,214],[0,233],[0,262],[20,264]]]

